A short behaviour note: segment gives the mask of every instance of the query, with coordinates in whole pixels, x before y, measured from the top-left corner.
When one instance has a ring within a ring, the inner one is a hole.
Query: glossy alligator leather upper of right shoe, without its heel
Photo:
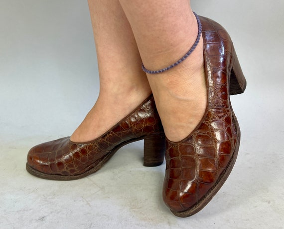
[[[233,44],[221,25],[201,16],[200,20],[204,41],[207,110],[188,137],[180,142],[166,140],[163,200],[173,213],[202,205],[214,186],[222,182],[220,178],[231,163],[240,138],[228,89]]]

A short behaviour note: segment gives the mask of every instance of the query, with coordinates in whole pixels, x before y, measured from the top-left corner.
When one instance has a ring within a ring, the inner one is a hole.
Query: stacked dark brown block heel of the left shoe
[[[165,157],[165,136],[153,135],[144,139],[144,166],[154,167],[163,163]]]

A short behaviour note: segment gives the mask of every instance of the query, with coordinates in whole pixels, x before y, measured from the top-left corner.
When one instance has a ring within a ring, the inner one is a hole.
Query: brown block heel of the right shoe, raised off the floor
[[[232,56],[232,71],[230,76],[230,95],[237,95],[244,93],[247,81],[239,63],[235,49]]]

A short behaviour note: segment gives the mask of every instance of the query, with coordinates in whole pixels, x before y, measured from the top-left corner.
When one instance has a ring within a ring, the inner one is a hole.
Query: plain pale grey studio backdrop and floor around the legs
[[[248,86],[231,98],[242,141],[229,179],[204,210],[180,219],[161,199],[164,164],[142,166],[142,142],[77,181],[25,171],[30,147],[72,134],[93,106],[95,46],[86,0],[0,0],[1,229],[283,228],[284,1],[192,7],[228,30]]]

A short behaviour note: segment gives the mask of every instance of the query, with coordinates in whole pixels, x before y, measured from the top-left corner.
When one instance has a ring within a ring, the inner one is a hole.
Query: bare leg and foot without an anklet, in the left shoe
[[[74,142],[99,137],[132,112],[150,93],[137,44],[118,0],[88,0],[96,43],[100,93],[71,136]],[[94,131],[95,130],[95,131]]]

